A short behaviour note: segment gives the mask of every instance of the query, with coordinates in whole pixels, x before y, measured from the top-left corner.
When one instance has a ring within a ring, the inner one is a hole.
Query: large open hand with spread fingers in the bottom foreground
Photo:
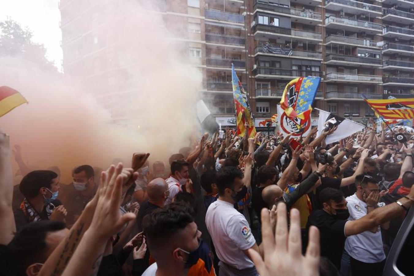
[[[255,249],[248,249],[260,276],[318,276],[320,259],[319,230],[309,228],[306,255],[301,250],[301,225],[297,209],[291,209],[290,229],[287,228],[286,205],[277,205],[276,234],[270,223],[270,214],[262,210],[264,259]]]

